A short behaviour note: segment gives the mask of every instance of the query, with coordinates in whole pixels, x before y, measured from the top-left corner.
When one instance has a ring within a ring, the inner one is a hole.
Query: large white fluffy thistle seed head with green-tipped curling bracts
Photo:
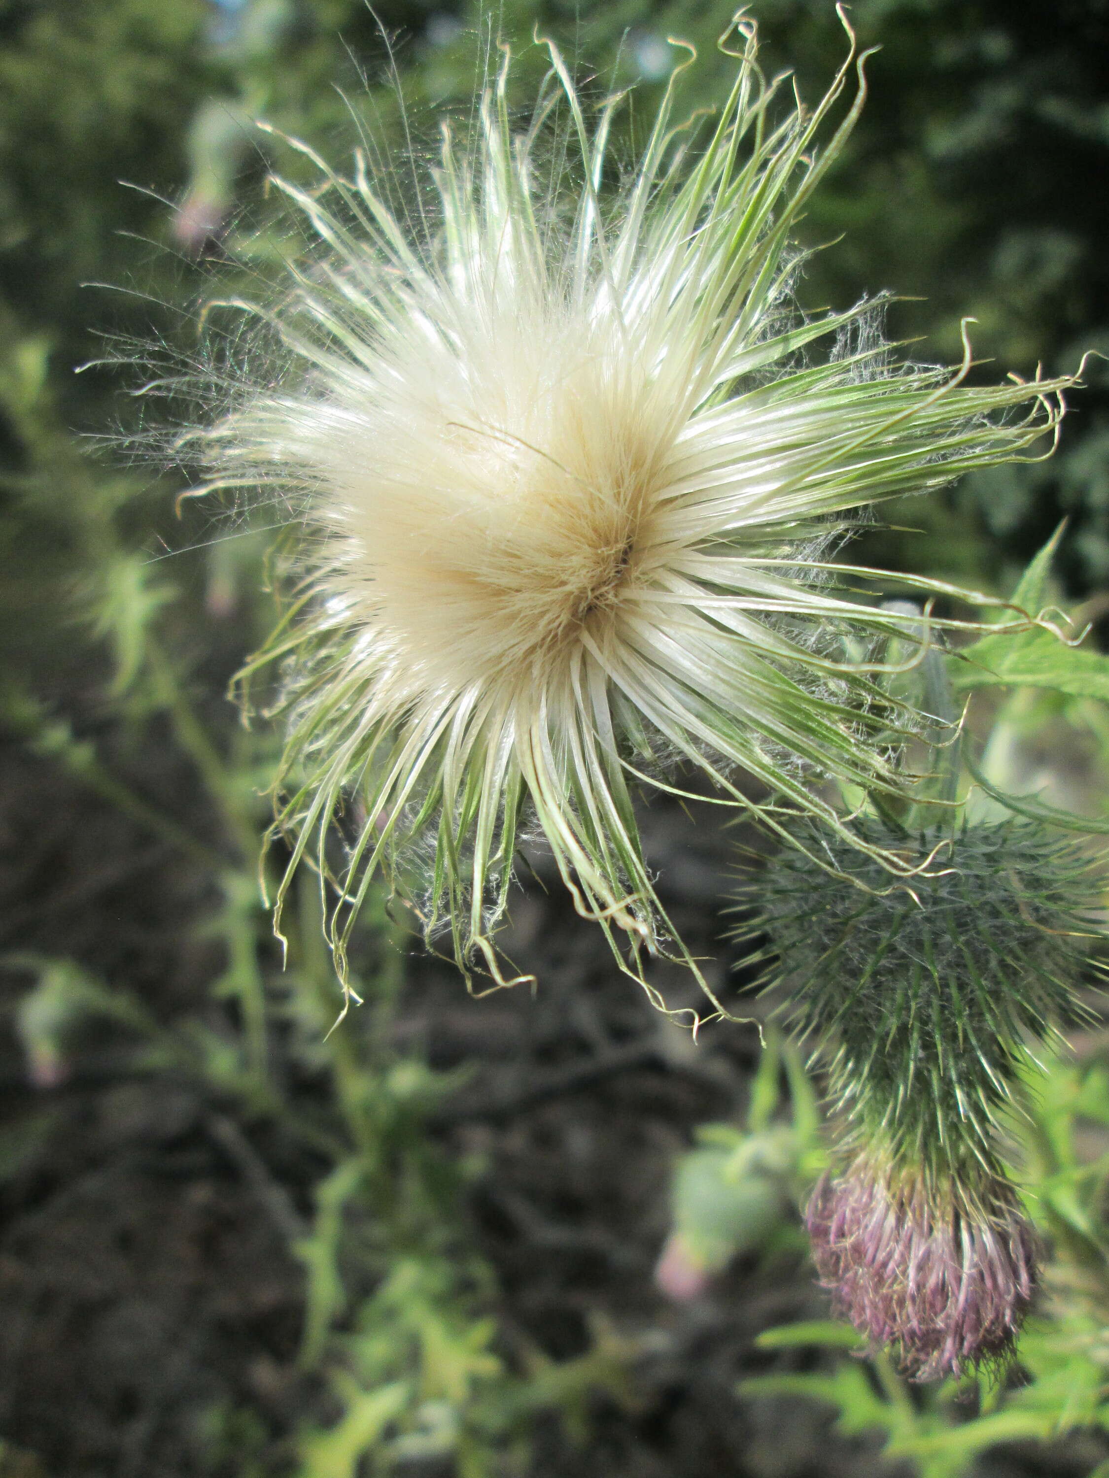
[[[463,970],[510,983],[491,939],[523,825],[623,968],[646,984],[643,953],[668,947],[696,973],[634,786],[677,758],[772,828],[800,810],[837,829],[806,779],[895,789],[898,709],[865,658],[908,618],[858,594],[871,572],[837,594],[824,541],[1062,414],[1071,381],[970,387],[969,355],[892,368],[872,304],[791,310],[791,225],[859,114],[862,58],[849,31],[809,111],[762,75],[750,19],[729,34],[716,120],[674,127],[671,78],[623,189],[606,186],[620,101],[590,126],[553,46],[529,129],[513,132],[506,58],[467,148],[444,130],[432,207],[395,211],[361,155],[346,180],[303,145],[319,189],[277,182],[319,250],[277,306],[234,306],[284,371],[183,440],[206,488],[262,488],[303,528],[299,599],[248,671],[288,664],[278,825],[290,875],[309,851],[337,885],[340,977],[384,873],[429,936],[450,927]],[[572,164],[552,171],[559,108]],[[352,794],[367,820],[336,872]]]

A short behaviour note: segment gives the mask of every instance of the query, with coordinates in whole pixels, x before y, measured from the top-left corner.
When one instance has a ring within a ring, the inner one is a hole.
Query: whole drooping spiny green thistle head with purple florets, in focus
[[[790,848],[759,916],[767,983],[828,1073],[840,1168],[807,1210],[838,1307],[915,1379],[1011,1352],[1035,1287],[1035,1239],[1003,1147],[1035,1043],[1074,1012],[1094,863],[1038,823],[866,840],[911,882],[831,842],[830,871]]]

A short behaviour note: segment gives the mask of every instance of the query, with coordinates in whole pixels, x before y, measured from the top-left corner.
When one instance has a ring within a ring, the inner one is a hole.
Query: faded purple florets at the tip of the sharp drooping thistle
[[[1037,1243],[1004,1182],[970,1206],[856,1162],[819,1179],[806,1225],[837,1308],[871,1348],[896,1345],[909,1379],[960,1376],[1011,1354],[1037,1286]]]

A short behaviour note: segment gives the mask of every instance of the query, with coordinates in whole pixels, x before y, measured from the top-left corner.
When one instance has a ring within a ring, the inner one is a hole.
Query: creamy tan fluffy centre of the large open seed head
[[[586,644],[620,650],[673,556],[677,387],[612,321],[538,288],[482,296],[464,356],[413,337],[384,393],[316,415],[316,511],[327,585],[392,646],[398,698],[519,706],[562,693]]]

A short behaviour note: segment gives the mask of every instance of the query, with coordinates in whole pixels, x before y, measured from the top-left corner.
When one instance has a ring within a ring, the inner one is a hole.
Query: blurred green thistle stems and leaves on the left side
[[[186,1014],[166,1023],[157,1004],[140,1001],[124,981],[102,980],[67,958],[9,953],[0,964],[31,978],[15,1009],[28,1076],[40,1088],[64,1082],[83,1033],[106,1020],[139,1043],[135,1069],[183,1075],[232,1106],[235,1117],[219,1114],[214,1132],[260,1179],[271,1213],[303,1265],[300,1363],[325,1376],[339,1413],[325,1426],[305,1426],[296,1451],[281,1456],[282,1471],[294,1460],[293,1471],[305,1478],[355,1478],[432,1454],[454,1459],[460,1478],[523,1472],[529,1417],[554,1409],[571,1426],[580,1423],[590,1392],[623,1392],[628,1355],[615,1336],[603,1335],[587,1355],[562,1364],[520,1349],[510,1366],[494,1348],[497,1326],[488,1312],[494,1289],[461,1224],[466,1168],[445,1160],[424,1129],[430,1110],[455,1083],[386,1045],[402,981],[404,931],[379,896],[359,950],[364,1008],[356,1027],[333,1030],[342,996],[322,940],[319,894],[306,878],[300,918],[287,931],[288,967],[281,970],[257,884],[274,736],[229,723],[222,698],[213,720],[194,702],[208,655],[201,636],[223,621],[225,599],[208,600],[207,612],[203,603],[200,612],[183,610],[188,603],[158,565],[130,547],[117,514],[138,483],[118,474],[98,482],[95,466],[53,420],[41,368],[34,340],[9,340],[0,395],[21,433],[24,467],[9,483],[12,505],[24,514],[46,510],[67,535],[71,572],[80,569],[64,619],[80,633],[84,661],[89,650],[102,652],[96,727],[111,729],[118,749],[142,745],[152,726],[164,723],[198,782],[191,814],[174,814],[132,788],[120,774],[126,763],[112,766],[101,755],[112,745],[80,735],[34,692],[33,674],[10,656],[0,714],[40,758],[214,882],[204,933],[220,943],[222,968],[208,989],[226,1009],[214,1020]],[[240,636],[248,636],[250,612],[259,616],[265,603],[262,562],[244,563],[238,575]],[[179,627],[185,616],[188,641]],[[35,636],[41,640],[44,633]],[[297,1064],[325,1075],[322,1106],[318,1097],[306,1106],[288,1089]],[[309,1218],[268,1181],[240,1123],[254,1131],[277,1125],[319,1163]],[[0,1176],[15,1172],[47,1128],[49,1120],[31,1119],[12,1142],[0,1142]],[[256,1466],[262,1457],[254,1448],[265,1445],[266,1435],[248,1411],[211,1413],[213,1471],[223,1463],[240,1474],[272,1471]]]

